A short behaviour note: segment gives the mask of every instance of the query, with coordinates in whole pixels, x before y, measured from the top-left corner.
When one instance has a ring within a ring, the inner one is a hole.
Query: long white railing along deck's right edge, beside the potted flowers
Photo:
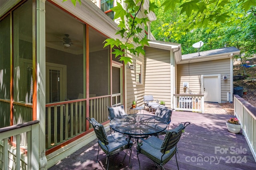
[[[256,161],[256,107],[234,95],[234,115],[242,124],[243,135]]]

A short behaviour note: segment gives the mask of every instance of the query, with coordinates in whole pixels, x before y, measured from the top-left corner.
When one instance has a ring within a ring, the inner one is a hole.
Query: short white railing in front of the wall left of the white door
[[[174,94],[174,109],[204,113],[203,94]]]

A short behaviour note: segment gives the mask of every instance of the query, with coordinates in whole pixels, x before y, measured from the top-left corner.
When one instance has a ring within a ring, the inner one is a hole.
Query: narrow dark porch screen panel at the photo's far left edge
[[[10,100],[10,15],[0,21],[0,99]],[[0,128],[10,125],[10,103],[0,102]]]

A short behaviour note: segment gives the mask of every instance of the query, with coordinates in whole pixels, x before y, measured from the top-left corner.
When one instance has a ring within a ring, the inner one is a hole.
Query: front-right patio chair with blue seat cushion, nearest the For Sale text
[[[180,136],[182,134],[182,131],[185,129],[186,126],[188,126],[190,122],[186,122],[183,124],[180,124],[175,129],[171,129],[167,131],[164,140],[159,139],[158,137],[152,136],[148,139],[139,138],[137,140],[137,157],[139,161],[140,166],[140,160],[139,160],[139,154],[144,154],[148,158],[154,161],[157,167],[160,166],[160,168],[164,169],[164,164],[166,164],[172,156],[175,154],[176,157],[176,163],[178,166],[177,161],[177,144],[180,140]],[[161,147],[160,147],[161,146]],[[179,169],[179,166],[178,166]]]

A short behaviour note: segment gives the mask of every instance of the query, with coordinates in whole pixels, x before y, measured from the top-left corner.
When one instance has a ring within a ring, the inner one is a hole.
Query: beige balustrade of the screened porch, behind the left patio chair
[[[108,120],[110,95],[46,104],[46,149],[50,149],[86,131],[86,117],[100,123]]]

